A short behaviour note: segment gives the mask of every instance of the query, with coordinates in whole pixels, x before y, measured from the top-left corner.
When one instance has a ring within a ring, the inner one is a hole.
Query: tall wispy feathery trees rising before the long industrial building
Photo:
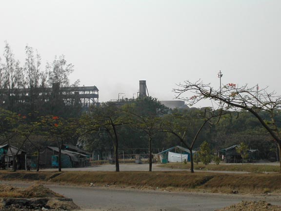
[[[63,55],[55,56],[52,63],[42,67],[40,54],[28,45],[25,47],[25,62],[20,64],[5,42],[3,56],[0,57],[0,107],[21,114],[30,113],[33,120],[38,112],[67,117],[69,112],[65,110],[70,109],[63,102],[58,102],[56,96],[49,96],[46,89],[53,84],[77,86],[79,80],[74,84],[69,81],[73,71],[74,65],[67,63]],[[60,109],[52,109],[54,106],[60,106]]]

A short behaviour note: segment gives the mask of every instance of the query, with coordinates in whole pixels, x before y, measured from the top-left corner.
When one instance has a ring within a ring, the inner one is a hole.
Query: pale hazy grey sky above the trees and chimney
[[[0,57],[5,41],[21,65],[27,44],[42,69],[64,55],[70,81],[96,85],[100,102],[136,97],[140,80],[175,100],[186,80],[219,88],[219,71],[281,95],[280,11],[281,0],[1,0]]]

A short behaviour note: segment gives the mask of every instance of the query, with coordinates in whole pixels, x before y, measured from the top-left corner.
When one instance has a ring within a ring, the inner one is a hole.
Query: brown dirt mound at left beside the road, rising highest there
[[[25,198],[43,198],[43,197],[60,197],[63,198],[59,193],[54,192],[43,185],[35,184],[26,188],[23,192]]]

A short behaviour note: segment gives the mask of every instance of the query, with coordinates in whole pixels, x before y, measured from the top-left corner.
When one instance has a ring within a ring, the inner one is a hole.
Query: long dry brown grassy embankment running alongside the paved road
[[[0,172],[0,180],[41,181],[84,186],[91,184],[91,186],[184,189],[223,193],[280,192],[280,176],[280,173],[216,174],[186,171]]]

